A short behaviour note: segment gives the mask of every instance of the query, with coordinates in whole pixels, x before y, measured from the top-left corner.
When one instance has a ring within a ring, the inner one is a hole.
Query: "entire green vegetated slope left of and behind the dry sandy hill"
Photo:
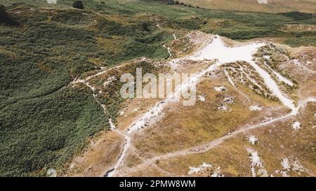
[[[72,8],[72,0],[55,5],[0,0],[6,6],[1,12],[14,21],[0,24],[0,176],[38,176],[47,168],[62,168],[89,136],[108,128],[91,90],[70,82],[137,57],[165,59],[169,54],[162,45],[174,31],[199,29],[234,39],[282,36],[289,45],[316,45],[315,31],[283,29],[284,24],[316,24],[315,15],[239,13],[154,1],[83,2],[79,10]],[[164,20],[162,29],[150,19],[153,15]],[[112,115],[117,113],[118,97],[100,99]]]

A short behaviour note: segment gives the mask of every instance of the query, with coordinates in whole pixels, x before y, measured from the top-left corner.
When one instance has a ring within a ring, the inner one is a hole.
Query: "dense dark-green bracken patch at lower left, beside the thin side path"
[[[62,167],[88,136],[105,129],[107,117],[90,91],[69,87],[3,108],[1,176],[45,175],[46,168]]]

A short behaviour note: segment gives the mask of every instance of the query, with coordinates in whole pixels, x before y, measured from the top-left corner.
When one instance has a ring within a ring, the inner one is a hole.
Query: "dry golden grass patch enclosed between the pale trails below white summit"
[[[216,92],[213,88],[224,85],[225,92]],[[141,155],[150,157],[157,154],[181,150],[219,138],[250,122],[255,122],[266,113],[249,110],[251,104],[270,107],[277,106],[275,101],[263,99],[253,92],[251,101],[236,92],[223,78],[203,80],[197,87],[197,95],[204,94],[206,101],[199,101],[195,106],[182,106],[182,103],[171,104],[165,108],[164,118],[136,134],[134,144]],[[223,103],[223,97],[233,97],[234,104],[228,104],[231,112],[218,111],[218,105]],[[285,110],[284,110],[285,111]],[[280,111],[278,111],[280,112]],[[271,112],[272,113],[272,112]]]

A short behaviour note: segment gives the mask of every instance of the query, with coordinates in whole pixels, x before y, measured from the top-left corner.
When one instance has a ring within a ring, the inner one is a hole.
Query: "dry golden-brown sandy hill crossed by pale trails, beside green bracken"
[[[315,47],[239,43],[199,31],[165,47],[169,60],[135,62],[197,73],[196,104],[125,101],[110,116],[112,130],[93,139],[65,176],[314,176]],[[74,85],[88,85],[98,101],[129,66]]]

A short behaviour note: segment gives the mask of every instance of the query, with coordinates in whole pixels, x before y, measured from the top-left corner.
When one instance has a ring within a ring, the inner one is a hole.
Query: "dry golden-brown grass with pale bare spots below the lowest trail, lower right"
[[[283,170],[281,161],[284,158],[295,159],[303,165],[306,171],[288,171],[290,176],[313,176],[316,170],[315,140],[316,120],[313,117],[316,104],[309,104],[301,110],[298,118],[290,118],[283,122],[267,125],[263,129],[240,134],[233,139],[225,141],[220,146],[206,153],[186,155],[181,157],[160,160],[156,163],[166,171],[177,176],[187,176],[189,167],[198,167],[203,162],[212,164],[213,169],[220,167],[224,176],[252,176],[251,160],[246,151],[251,148],[258,152],[263,163],[263,168],[270,176],[281,176],[276,170]],[[291,124],[294,121],[301,122],[301,129],[295,131]],[[258,143],[254,146],[248,142],[247,136],[254,134]],[[192,176],[210,176],[210,171],[202,171]]]

